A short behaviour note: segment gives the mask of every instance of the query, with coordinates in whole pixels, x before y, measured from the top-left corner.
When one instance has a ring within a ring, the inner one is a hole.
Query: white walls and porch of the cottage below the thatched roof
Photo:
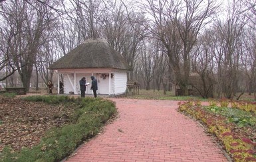
[[[127,71],[118,69],[58,69],[58,83],[63,77],[64,94],[80,95],[79,81],[86,78],[86,83],[91,84],[93,75],[98,81],[98,95],[122,95],[126,93]],[[87,85],[85,94],[92,95],[90,84]],[[58,92],[59,86],[58,86]]]

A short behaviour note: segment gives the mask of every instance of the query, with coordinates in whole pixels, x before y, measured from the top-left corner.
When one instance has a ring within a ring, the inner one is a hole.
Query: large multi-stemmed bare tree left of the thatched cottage
[[[35,6],[37,6],[37,10],[35,10]],[[23,1],[9,1],[9,3],[1,3],[1,10],[8,13],[2,16],[9,35],[14,35],[10,40],[11,54],[15,66],[19,67],[17,70],[23,86],[29,91],[37,52],[45,42],[41,39],[42,35],[52,27],[51,23],[55,17],[53,17],[51,9],[42,3],[35,3],[32,7]]]

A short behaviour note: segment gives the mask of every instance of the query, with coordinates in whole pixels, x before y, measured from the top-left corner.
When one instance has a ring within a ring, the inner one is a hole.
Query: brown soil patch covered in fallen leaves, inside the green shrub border
[[[0,95],[0,151],[9,145],[19,151],[37,145],[45,132],[69,120],[72,108]]]

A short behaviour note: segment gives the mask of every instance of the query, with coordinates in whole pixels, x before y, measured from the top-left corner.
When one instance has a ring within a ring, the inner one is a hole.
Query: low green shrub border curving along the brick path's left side
[[[23,113],[24,116],[20,116],[20,118],[26,118],[26,114],[33,111],[34,108],[31,108],[32,104],[30,101],[34,101],[35,103],[39,102],[36,109],[40,109],[42,106],[40,106],[40,104],[43,104],[45,107],[44,110],[49,111],[49,113],[47,112],[46,114],[51,114],[51,112],[55,113],[55,111],[52,110],[54,108],[53,105],[57,105],[58,107],[63,105],[61,106],[62,108],[74,111],[72,115],[66,116],[68,122],[64,125],[53,126],[53,128],[45,132],[39,144],[33,147],[23,147],[23,149],[19,151],[15,151],[10,146],[5,147],[3,151],[0,152],[0,161],[61,161],[61,159],[70,155],[84,140],[98,134],[104,123],[111,118],[111,116],[116,114],[114,102],[100,98],[94,99],[86,97],[85,99],[74,99],[53,95],[31,96],[26,97],[25,100],[30,104],[26,104],[25,102],[25,104],[19,106],[24,110],[29,109],[29,111],[28,113]],[[49,109],[46,108],[47,105],[44,103],[49,104]],[[41,114],[43,114],[43,112]],[[11,112],[9,112],[9,115],[11,115]],[[61,116],[63,117],[63,115]],[[13,116],[13,118],[15,118],[15,116]],[[41,116],[41,118],[45,117]],[[48,116],[48,118],[50,117]],[[57,116],[54,118],[57,118]],[[6,122],[6,120],[3,120],[0,128],[4,126]],[[37,124],[37,122],[38,120],[35,120],[35,123],[31,121],[29,124]],[[4,131],[5,130],[8,131],[8,127],[5,128]],[[33,140],[33,138],[31,138],[31,140]]]

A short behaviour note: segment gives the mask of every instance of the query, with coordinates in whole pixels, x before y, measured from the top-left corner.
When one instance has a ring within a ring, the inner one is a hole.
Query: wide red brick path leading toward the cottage
[[[112,100],[119,117],[66,161],[228,161],[178,101]]]

